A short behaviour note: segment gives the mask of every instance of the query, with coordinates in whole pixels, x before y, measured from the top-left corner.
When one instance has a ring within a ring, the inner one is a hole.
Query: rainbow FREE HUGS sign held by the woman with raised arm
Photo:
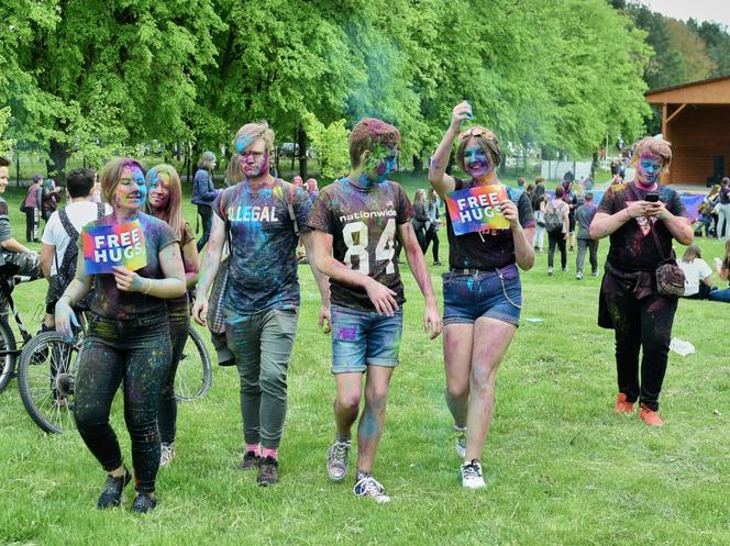
[[[509,227],[509,221],[499,208],[499,203],[507,199],[507,189],[502,185],[476,186],[452,191],[445,197],[455,235]]]

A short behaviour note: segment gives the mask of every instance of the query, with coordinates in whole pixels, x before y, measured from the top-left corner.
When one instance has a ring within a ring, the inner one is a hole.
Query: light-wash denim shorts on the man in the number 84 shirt
[[[403,311],[392,316],[332,304],[332,374],[398,366]]]

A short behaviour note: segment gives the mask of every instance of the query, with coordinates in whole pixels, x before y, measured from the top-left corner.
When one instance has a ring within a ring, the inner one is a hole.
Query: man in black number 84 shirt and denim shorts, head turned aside
[[[395,256],[396,237],[406,248],[425,298],[424,330],[432,339],[441,333],[431,277],[410,222],[413,210],[400,185],[387,180],[399,141],[398,130],[380,120],[364,119],[355,125],[350,135],[350,175],[320,190],[309,218],[314,230],[310,263],[330,277],[331,291],[332,372],[338,395],[328,473],[335,481],[346,476],[351,428],[367,372],[353,492],[376,502],[390,500],[372,472],[390,376],[398,365],[406,301]]]

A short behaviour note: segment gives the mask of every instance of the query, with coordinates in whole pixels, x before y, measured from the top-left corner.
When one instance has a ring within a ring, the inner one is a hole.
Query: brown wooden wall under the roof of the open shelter
[[[706,186],[715,155],[725,156],[725,176],[730,177],[730,104],[687,104],[664,138],[672,142],[670,183]]]

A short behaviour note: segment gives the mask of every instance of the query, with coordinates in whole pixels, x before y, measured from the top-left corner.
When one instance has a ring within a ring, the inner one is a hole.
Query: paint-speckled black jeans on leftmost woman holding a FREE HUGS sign
[[[157,408],[172,357],[167,312],[118,321],[89,313],[76,378],[76,426],[107,471],[122,464],[109,424],[111,403],[124,381],[124,421],[132,438],[132,463],[140,492],[155,490],[159,467]]]

